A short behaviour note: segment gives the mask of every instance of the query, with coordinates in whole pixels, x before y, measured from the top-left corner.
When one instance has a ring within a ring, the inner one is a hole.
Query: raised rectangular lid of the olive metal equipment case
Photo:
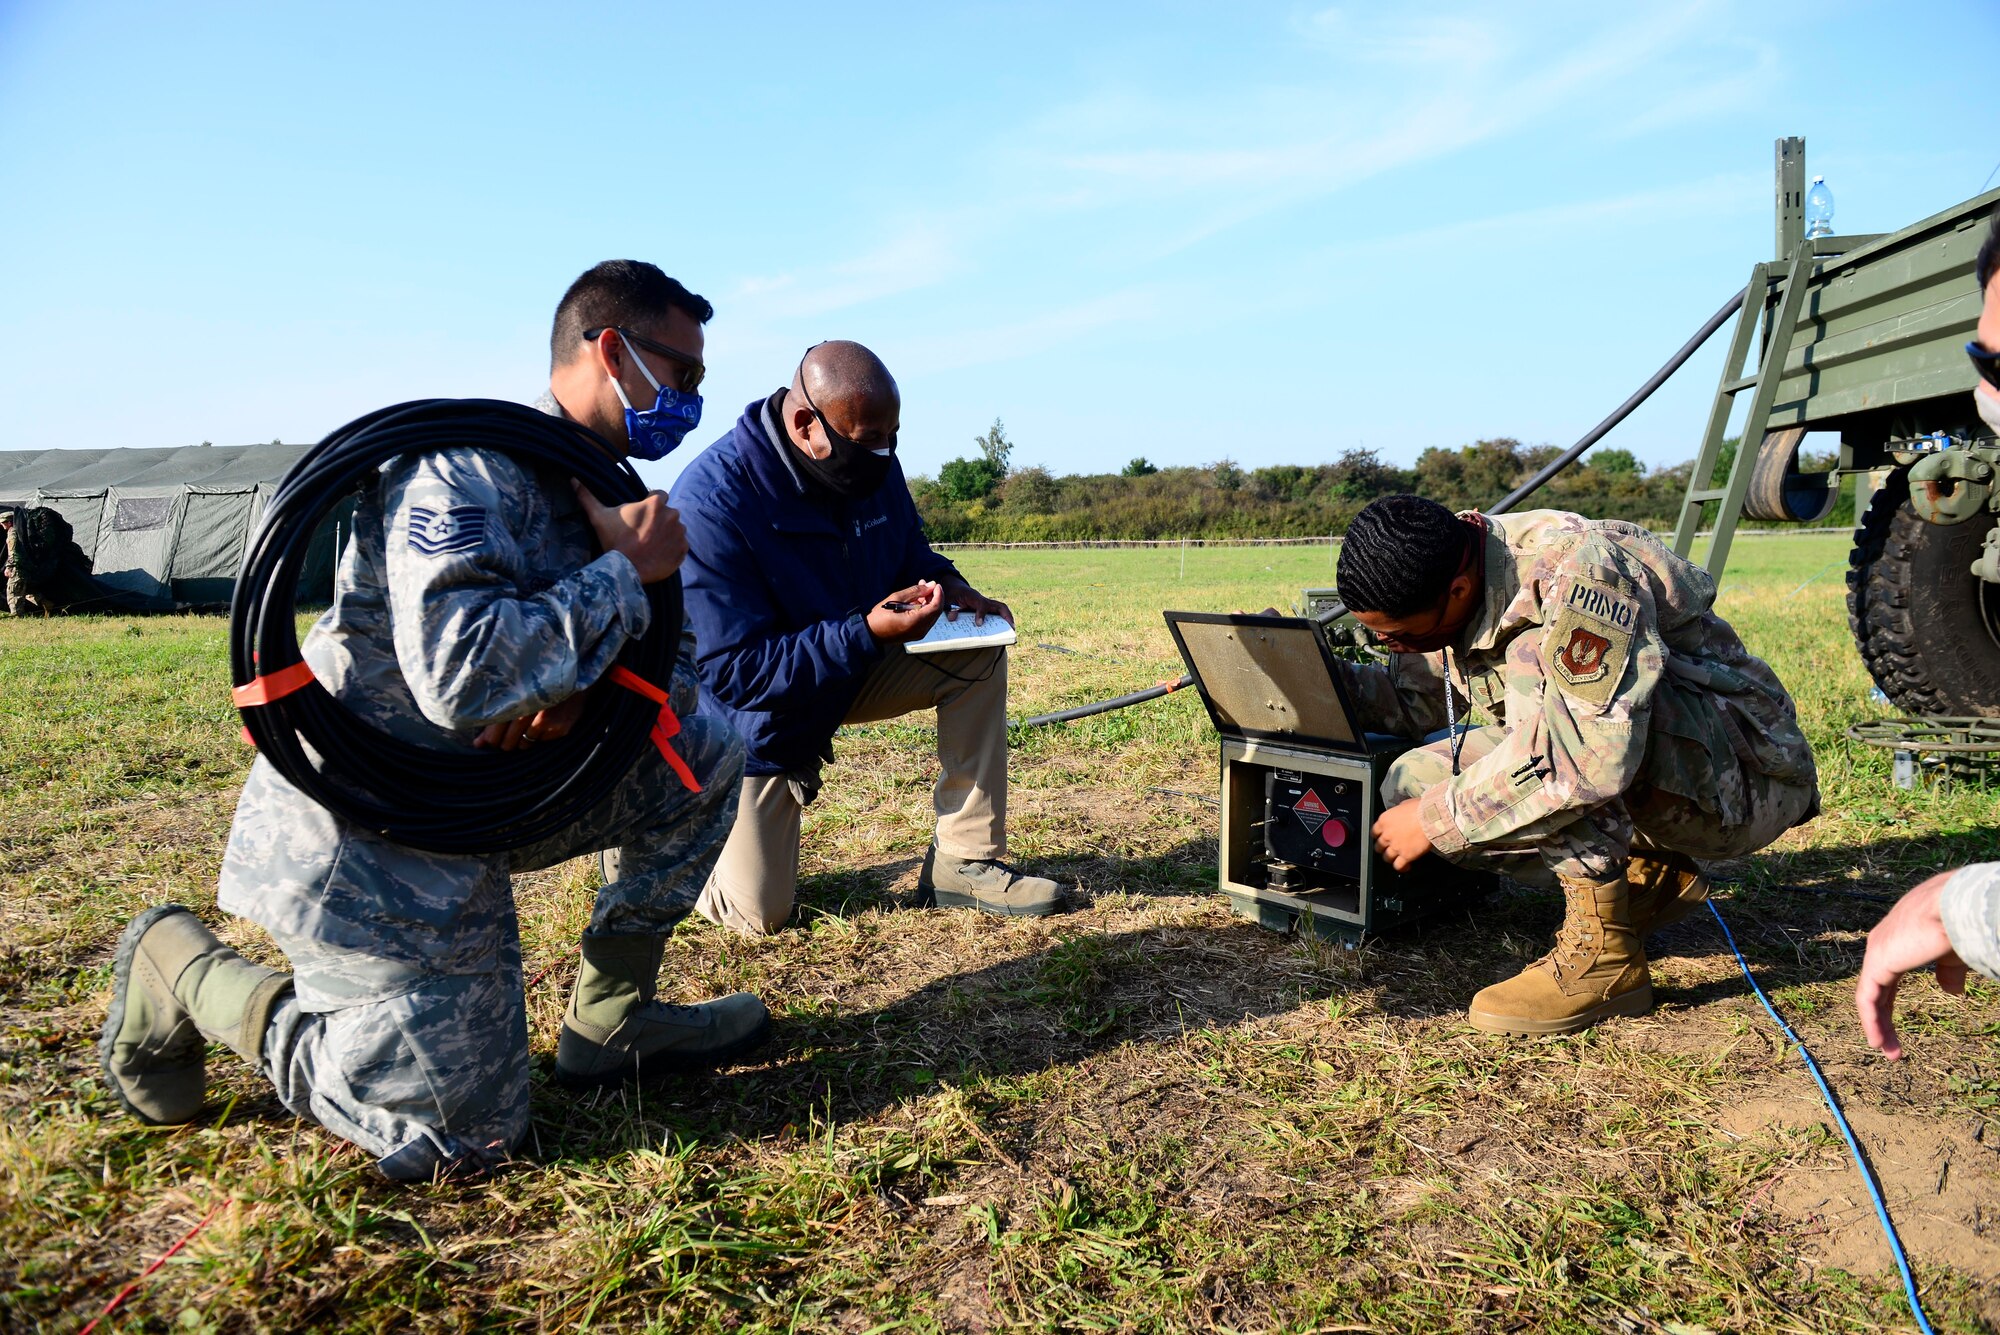
[[[1164,616],[1216,731],[1336,751],[1368,749],[1334,669],[1326,628],[1314,618]]]

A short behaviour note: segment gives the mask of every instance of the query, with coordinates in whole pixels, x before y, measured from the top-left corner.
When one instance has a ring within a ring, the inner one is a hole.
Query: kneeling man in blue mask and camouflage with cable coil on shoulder
[[[556,310],[540,408],[658,458],[698,414],[710,314],[650,264],[596,266]],[[650,366],[636,348],[654,350]],[[650,408],[630,410],[626,390]],[[334,606],[304,656],[342,703],[404,739],[532,745],[576,723],[584,691],[630,638],[670,634],[648,626],[644,586],[672,576],[684,554],[680,518],[658,492],[602,506],[572,496],[560,474],[478,446],[402,456],[356,508]],[[514,853],[390,843],[258,759],[218,903],[270,931],[292,971],[250,963],[178,905],[134,919],[102,1043],[120,1103],[154,1123],[192,1119],[206,1037],[264,1071],[286,1107],[376,1155],[392,1179],[494,1165],[528,1131],[508,877],[598,849],[612,849],[610,879],[584,929],[558,1077],[606,1083],[716,1065],[760,1043],[768,1015],[748,993],[654,999],[666,937],[728,837],[744,763],[734,729],[696,713],[696,695],[684,636],[670,699],[698,793],[648,747],[584,821]]]

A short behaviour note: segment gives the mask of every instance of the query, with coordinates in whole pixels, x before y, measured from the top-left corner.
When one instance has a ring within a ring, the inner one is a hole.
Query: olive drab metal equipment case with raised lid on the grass
[[[1222,735],[1218,885],[1238,917],[1360,937],[1470,891],[1438,857],[1400,875],[1374,851],[1382,777],[1410,749],[1370,737],[1314,618],[1168,612]]]

